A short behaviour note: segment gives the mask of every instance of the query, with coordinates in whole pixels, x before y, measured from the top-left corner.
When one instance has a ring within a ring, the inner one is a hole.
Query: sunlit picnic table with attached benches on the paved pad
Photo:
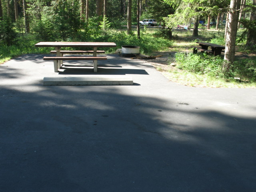
[[[35,44],[36,47],[54,47],[56,57],[44,57],[44,60],[54,60],[54,72],[58,72],[58,69],[62,66],[63,60],[93,60],[94,72],[97,72],[97,61],[106,60],[106,57],[98,57],[97,53],[104,53],[97,51],[98,47],[116,47],[113,42],[39,42]],[[62,47],[92,47],[93,51],[62,51]],[[90,57],[67,57],[63,54],[76,54],[76,53],[92,53]]]

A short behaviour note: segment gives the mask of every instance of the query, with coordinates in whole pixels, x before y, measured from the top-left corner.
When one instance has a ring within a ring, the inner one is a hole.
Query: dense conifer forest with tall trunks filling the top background
[[[10,44],[14,32],[38,34],[38,40],[68,41],[80,31],[97,34],[101,28],[131,25],[144,18],[156,19],[163,28],[193,24],[198,36],[199,21],[216,21],[216,30],[226,20],[225,59],[234,60],[236,32],[240,26],[246,47],[255,49],[256,0],[0,0],[0,41]],[[81,34],[80,34],[81,36]],[[138,38],[139,28],[138,28]]]

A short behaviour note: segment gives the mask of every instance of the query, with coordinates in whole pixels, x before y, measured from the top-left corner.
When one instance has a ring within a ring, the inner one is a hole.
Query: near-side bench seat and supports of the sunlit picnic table
[[[54,72],[58,72],[61,67],[62,60],[107,60],[107,57],[44,57],[44,60],[54,60]],[[97,68],[97,64],[94,62],[94,68]]]

